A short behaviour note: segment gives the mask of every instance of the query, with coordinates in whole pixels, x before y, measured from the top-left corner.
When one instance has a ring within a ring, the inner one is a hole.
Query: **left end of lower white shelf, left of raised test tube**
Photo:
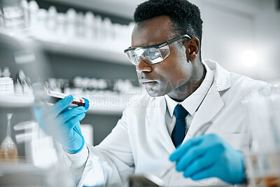
[[[33,95],[0,95],[0,107],[27,107],[33,102]]]

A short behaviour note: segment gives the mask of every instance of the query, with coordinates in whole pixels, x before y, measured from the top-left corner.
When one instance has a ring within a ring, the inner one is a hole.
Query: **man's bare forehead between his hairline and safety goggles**
[[[171,21],[168,16],[159,16],[139,22],[132,32],[132,47],[152,46],[169,39]]]

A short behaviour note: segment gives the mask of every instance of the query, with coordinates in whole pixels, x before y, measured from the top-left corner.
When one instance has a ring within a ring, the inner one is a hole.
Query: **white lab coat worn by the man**
[[[218,134],[233,148],[248,151],[251,134],[244,123],[241,100],[251,90],[260,90],[267,83],[230,73],[210,60],[204,63],[214,72],[214,82],[195,113],[183,142],[211,120],[206,134]],[[123,186],[134,173],[150,172],[160,176],[170,165],[168,158],[175,147],[165,123],[165,97],[137,95],[132,97],[131,104],[99,146],[87,145],[89,156],[79,186],[86,177],[106,182],[106,186]],[[169,186],[226,185],[216,178],[192,181],[175,171],[167,176],[165,182]]]

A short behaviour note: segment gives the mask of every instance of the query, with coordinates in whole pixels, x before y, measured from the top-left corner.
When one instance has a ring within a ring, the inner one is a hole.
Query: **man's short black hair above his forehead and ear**
[[[149,0],[139,4],[134,12],[134,22],[144,22],[160,15],[169,16],[174,34],[188,34],[200,40],[202,46],[202,19],[200,9],[187,0]]]

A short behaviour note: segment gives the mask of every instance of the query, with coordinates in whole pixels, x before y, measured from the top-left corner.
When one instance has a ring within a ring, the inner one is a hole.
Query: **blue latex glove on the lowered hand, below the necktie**
[[[244,157],[216,134],[189,139],[170,155],[176,170],[194,181],[218,177],[227,183],[244,183]]]

